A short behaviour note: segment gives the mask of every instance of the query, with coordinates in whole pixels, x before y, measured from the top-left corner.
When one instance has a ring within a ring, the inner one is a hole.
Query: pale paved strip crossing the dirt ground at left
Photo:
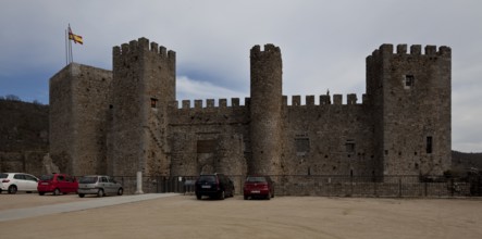
[[[35,216],[49,215],[54,213],[65,213],[82,211],[88,209],[96,209],[102,206],[118,205],[131,202],[138,202],[151,199],[159,199],[165,197],[177,196],[177,193],[147,193],[147,194],[134,194],[122,197],[108,197],[88,201],[77,201],[52,205],[40,205],[26,209],[12,209],[3,210],[0,213],[0,222],[7,222],[12,219],[23,219]]]

